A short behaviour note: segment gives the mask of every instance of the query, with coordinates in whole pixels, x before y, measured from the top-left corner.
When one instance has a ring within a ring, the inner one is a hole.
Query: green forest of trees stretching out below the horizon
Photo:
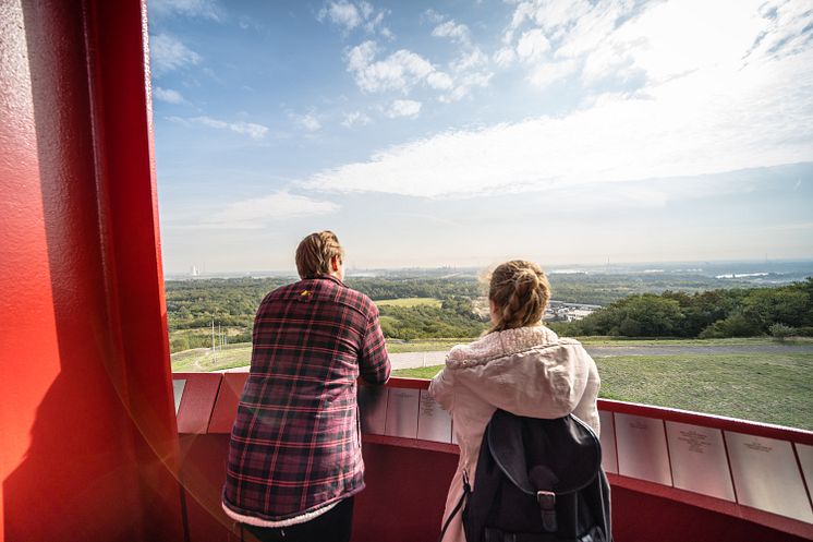
[[[263,298],[290,278],[168,281],[167,308],[172,351],[211,344],[209,329],[230,329],[229,342],[251,341],[254,314]],[[813,336],[813,278],[776,288],[703,290],[701,281],[664,277],[555,276],[555,298],[594,303],[611,300],[584,320],[551,323],[567,336],[751,337]],[[350,278],[348,285],[373,300],[434,298],[440,306],[381,305],[381,328],[391,339],[476,337],[487,327],[473,300],[485,294],[473,276],[457,278]],[[685,289],[684,289],[685,288]],[[658,293],[648,293],[654,290]],[[689,290],[689,291],[685,291]],[[640,293],[644,291],[645,293]],[[182,332],[187,330],[187,332]]]

